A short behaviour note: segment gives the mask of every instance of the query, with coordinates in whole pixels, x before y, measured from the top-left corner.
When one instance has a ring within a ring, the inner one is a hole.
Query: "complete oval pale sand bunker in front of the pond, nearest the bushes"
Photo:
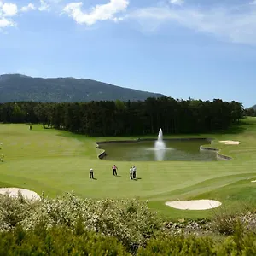
[[[219,207],[221,202],[214,200],[166,201],[166,206],[180,210],[207,210]]]

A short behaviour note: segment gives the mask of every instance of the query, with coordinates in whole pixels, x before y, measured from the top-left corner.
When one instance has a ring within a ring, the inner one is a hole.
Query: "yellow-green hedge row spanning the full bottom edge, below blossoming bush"
[[[24,230],[19,224],[9,231],[0,232],[0,255],[131,255],[131,248],[124,247],[113,236],[104,236],[84,230],[79,219],[74,229],[55,225],[51,228],[38,222],[33,229]],[[234,234],[217,241],[213,236],[170,236],[158,234],[140,246],[137,256],[253,256],[256,240],[253,232],[245,233],[237,224]]]

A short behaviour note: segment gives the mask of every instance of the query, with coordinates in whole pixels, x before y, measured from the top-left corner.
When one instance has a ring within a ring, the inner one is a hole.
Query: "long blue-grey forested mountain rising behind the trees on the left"
[[[0,75],[0,102],[124,102],[161,97],[162,94],[123,88],[90,79],[32,78],[20,74]]]

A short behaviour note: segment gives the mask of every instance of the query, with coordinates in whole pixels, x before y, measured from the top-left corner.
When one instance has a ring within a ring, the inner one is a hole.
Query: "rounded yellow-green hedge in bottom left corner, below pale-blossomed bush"
[[[0,233],[0,255],[129,255],[117,239],[95,232],[76,234],[64,227]]]

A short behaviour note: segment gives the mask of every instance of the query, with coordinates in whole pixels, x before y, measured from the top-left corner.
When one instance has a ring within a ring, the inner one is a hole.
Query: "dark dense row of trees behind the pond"
[[[211,132],[236,125],[244,115],[240,102],[175,100],[172,97],[145,101],[0,104],[0,122],[41,123],[89,136]]]

